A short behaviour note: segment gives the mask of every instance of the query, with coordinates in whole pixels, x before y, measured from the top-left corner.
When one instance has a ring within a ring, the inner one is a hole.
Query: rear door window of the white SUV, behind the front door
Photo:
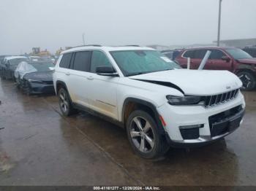
[[[73,69],[78,71],[89,71],[91,51],[76,52]]]

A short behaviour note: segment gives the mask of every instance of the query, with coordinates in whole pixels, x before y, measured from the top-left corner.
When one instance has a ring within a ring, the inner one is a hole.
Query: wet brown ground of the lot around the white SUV
[[[59,114],[56,96],[27,96],[0,81],[0,185],[256,185],[256,92],[244,93],[241,128],[165,160],[133,154],[123,129]]]

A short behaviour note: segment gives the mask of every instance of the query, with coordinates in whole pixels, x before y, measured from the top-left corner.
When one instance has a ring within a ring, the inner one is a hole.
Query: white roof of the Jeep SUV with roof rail
[[[105,52],[108,51],[118,51],[118,50],[154,50],[150,47],[135,47],[135,46],[124,46],[124,47],[99,47],[99,46],[82,46],[82,47],[74,47],[69,50],[65,50],[61,52],[61,55],[67,52],[76,52],[81,50],[102,50]]]

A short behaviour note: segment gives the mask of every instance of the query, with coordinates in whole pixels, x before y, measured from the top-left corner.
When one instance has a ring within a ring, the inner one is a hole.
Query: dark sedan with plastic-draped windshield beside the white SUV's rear
[[[21,62],[15,70],[17,86],[27,95],[54,93],[53,63]]]

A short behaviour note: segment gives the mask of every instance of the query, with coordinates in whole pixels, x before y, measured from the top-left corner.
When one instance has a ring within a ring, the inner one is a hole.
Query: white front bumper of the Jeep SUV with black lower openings
[[[193,147],[216,141],[236,130],[241,125],[244,108],[244,96],[238,93],[235,99],[211,108],[164,104],[158,108],[158,112],[166,123],[167,141],[175,147]],[[184,136],[181,127],[189,125],[201,127],[187,130],[187,136]]]

